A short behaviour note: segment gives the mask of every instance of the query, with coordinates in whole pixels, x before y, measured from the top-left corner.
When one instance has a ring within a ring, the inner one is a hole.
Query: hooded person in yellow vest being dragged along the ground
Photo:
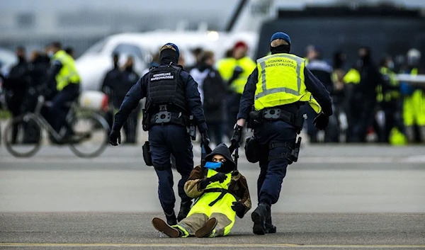
[[[219,144],[205,157],[205,166],[196,166],[184,185],[188,196],[196,198],[186,219],[167,225],[159,218],[152,225],[171,238],[220,237],[229,234],[235,217],[251,209],[246,178],[236,169],[229,148]]]

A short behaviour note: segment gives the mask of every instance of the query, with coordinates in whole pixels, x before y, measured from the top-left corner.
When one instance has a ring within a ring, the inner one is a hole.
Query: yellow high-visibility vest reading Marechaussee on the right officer
[[[290,103],[308,102],[320,113],[322,108],[304,81],[305,60],[292,54],[275,54],[257,60],[259,78],[256,84],[254,108],[272,108]]]

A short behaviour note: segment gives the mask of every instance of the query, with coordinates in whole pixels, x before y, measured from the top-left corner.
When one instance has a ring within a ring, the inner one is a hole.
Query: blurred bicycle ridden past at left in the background
[[[44,118],[43,107],[51,106],[44,96],[38,96],[34,112],[28,112],[11,119],[4,129],[4,144],[15,157],[32,157],[45,140],[43,132],[48,133],[51,142],[67,144],[78,157],[97,157],[108,145],[109,125],[106,120],[89,110],[77,109],[77,102],[66,103],[69,107],[66,121],[60,132]],[[26,137],[31,129],[32,139]],[[28,131],[26,131],[28,130]],[[34,134],[35,133],[35,134]]]

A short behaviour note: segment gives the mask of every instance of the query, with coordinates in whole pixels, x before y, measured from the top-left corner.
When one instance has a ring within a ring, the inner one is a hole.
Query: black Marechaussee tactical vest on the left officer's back
[[[148,113],[158,111],[159,106],[166,105],[167,110],[186,114],[184,84],[180,79],[180,67],[169,65],[155,67],[149,73],[147,84]]]

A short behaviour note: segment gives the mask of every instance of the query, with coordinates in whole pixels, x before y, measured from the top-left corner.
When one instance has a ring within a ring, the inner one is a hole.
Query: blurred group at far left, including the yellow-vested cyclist
[[[6,76],[0,76],[5,103],[13,118],[34,112],[38,97],[44,96],[46,101],[50,101],[50,106],[42,108],[42,115],[56,132],[60,132],[66,125],[69,110],[66,103],[75,101],[80,93],[80,78],[73,53],[72,47],[63,49],[60,42],[52,42],[45,51],[35,50],[27,58],[25,47],[17,47],[18,63]],[[38,142],[40,132],[33,131],[37,130],[35,125],[25,124],[24,130],[23,143]],[[17,134],[18,124],[15,124],[12,143],[16,143]],[[71,134],[72,130],[67,129],[62,139],[69,139]]]

